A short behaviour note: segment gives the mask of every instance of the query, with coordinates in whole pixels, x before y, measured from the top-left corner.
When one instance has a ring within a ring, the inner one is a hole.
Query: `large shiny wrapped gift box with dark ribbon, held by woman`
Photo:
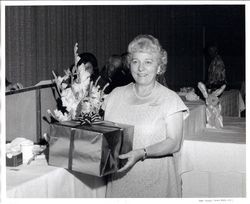
[[[101,122],[79,125],[75,121],[50,125],[49,165],[94,176],[116,172],[119,154],[132,150],[133,126]]]

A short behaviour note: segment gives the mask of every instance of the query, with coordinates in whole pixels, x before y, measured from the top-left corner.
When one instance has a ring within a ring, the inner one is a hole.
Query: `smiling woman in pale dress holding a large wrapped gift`
[[[151,35],[128,46],[135,83],[114,89],[105,101],[105,120],[134,126],[133,150],[110,178],[107,197],[179,197],[173,154],[181,147],[188,112],[179,96],[156,81],[166,69],[167,53]]]

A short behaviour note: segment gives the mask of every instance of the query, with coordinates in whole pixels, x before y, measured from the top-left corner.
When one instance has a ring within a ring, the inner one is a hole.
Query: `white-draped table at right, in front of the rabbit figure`
[[[183,197],[246,197],[244,118],[224,117],[223,129],[189,135],[178,156]]]

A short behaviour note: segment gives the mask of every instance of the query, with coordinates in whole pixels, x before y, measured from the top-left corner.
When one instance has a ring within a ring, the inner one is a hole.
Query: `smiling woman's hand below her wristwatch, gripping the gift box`
[[[130,151],[126,154],[119,155],[119,159],[127,159],[127,163],[125,166],[123,166],[121,169],[118,170],[118,172],[123,172],[130,167],[134,166],[135,163],[140,160],[144,155],[143,149],[136,149],[133,151]]]

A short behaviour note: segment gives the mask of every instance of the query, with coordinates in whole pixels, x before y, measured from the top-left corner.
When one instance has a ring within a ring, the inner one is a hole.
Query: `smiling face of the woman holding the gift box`
[[[155,83],[159,70],[158,55],[149,52],[135,52],[132,54],[130,69],[137,84],[152,85]]]

